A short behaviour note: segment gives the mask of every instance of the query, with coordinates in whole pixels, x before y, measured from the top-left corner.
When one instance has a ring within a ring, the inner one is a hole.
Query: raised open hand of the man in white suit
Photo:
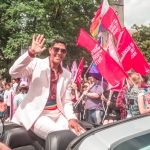
[[[44,35],[39,34],[37,37],[33,35],[30,52],[33,55],[41,54],[46,48],[43,48],[46,39]]]

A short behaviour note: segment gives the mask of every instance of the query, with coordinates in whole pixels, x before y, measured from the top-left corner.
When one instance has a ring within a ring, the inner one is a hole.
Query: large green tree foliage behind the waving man
[[[90,53],[76,46],[80,28],[89,33],[91,20],[102,0],[3,0],[0,1],[0,70],[20,56],[21,47],[31,44],[33,34],[44,34],[45,46],[57,37],[66,40],[68,46],[64,66],[78,63],[84,56],[88,64]],[[39,57],[46,57],[45,51]]]

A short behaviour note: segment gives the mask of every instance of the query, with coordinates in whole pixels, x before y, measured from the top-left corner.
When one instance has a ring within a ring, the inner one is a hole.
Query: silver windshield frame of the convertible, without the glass
[[[113,149],[124,141],[150,133],[149,129],[150,115],[141,115],[93,129],[75,139],[72,148],[76,147],[76,150]]]

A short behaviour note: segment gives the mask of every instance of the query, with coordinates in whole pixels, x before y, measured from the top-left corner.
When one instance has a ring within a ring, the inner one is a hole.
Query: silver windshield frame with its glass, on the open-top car
[[[150,115],[91,129],[71,141],[66,150],[150,150]]]

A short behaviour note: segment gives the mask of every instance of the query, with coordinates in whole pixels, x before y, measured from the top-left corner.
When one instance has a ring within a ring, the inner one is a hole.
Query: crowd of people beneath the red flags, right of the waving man
[[[78,104],[81,108],[78,112],[81,120],[105,125],[135,115],[150,113],[148,75],[141,76],[132,71],[128,73],[128,79],[121,86],[119,85],[120,88],[112,90],[105,80],[94,76],[90,76],[89,80],[83,80],[81,88],[78,89],[80,95],[84,95],[81,103]]]

